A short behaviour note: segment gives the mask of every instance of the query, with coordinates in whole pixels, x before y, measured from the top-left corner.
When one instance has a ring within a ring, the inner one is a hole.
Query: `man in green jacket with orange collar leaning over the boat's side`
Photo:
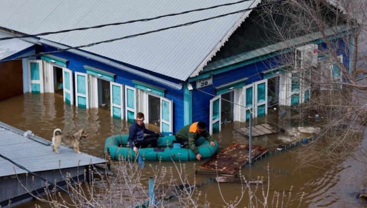
[[[197,150],[195,141],[200,137],[204,137],[210,142],[212,147],[215,147],[214,139],[210,136],[209,132],[206,131],[206,124],[203,121],[184,126],[176,133],[176,140],[182,145],[188,141],[188,145],[190,146],[192,152],[194,152],[196,155],[197,160],[200,160],[201,155]]]

